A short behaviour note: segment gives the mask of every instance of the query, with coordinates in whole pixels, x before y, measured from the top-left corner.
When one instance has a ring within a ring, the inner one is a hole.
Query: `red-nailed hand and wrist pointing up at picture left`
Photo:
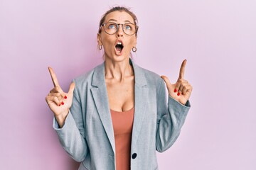
[[[68,93],[65,93],[58,84],[58,79],[53,72],[53,69],[48,67],[50,72],[50,77],[53,80],[53,89],[50,90],[48,96],[46,96],[46,102],[51,111],[53,111],[58,125],[60,128],[63,127],[65,123],[65,118],[68,115],[69,109],[73,101],[73,91],[75,89],[75,83],[70,84],[70,89]]]

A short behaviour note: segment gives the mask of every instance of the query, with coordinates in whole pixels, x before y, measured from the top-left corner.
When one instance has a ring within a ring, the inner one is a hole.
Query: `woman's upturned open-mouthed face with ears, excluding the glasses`
[[[132,16],[124,11],[114,11],[109,13],[104,23],[134,23]],[[103,45],[105,50],[105,60],[112,60],[114,62],[122,62],[129,60],[129,55],[132,47],[136,47],[136,35],[126,35],[122,30],[122,25],[119,25],[117,33],[109,35],[105,33],[104,28],[101,28],[101,33],[97,35],[99,45]]]

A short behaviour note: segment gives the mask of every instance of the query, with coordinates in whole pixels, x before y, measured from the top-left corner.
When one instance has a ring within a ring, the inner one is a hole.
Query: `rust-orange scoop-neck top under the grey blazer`
[[[114,128],[116,167],[117,170],[129,170],[134,108],[124,112],[112,111],[110,109],[110,113]]]

